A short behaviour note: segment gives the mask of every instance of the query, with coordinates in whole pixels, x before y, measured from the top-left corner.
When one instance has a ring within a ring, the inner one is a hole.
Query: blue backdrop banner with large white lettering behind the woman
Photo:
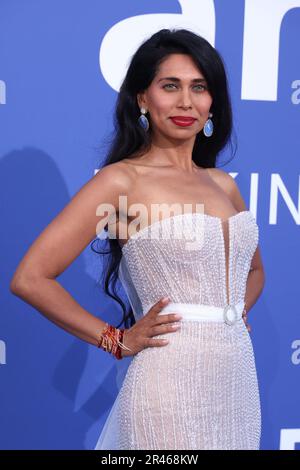
[[[300,449],[300,0],[0,0],[1,449],[93,449],[122,384],[130,358],[60,329],[9,284],[99,169],[130,57],[162,28],[193,30],[225,61],[238,148],[222,169],[256,217],[266,274],[249,312],[261,449]],[[116,325],[99,277],[88,246],[58,280]]]

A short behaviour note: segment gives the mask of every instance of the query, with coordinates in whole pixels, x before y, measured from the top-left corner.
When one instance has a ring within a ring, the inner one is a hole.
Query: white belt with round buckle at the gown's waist
[[[180,302],[169,302],[163,307],[159,315],[166,312],[179,313],[183,320],[192,321],[213,321],[225,322],[227,325],[233,325],[242,318],[245,302],[240,301],[237,304],[228,304],[225,307],[216,307],[214,305],[191,304]]]

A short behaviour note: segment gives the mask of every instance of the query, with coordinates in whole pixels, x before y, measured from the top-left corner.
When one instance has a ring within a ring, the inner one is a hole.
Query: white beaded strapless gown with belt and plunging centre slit
[[[129,239],[119,276],[136,321],[163,296],[162,313],[183,319],[156,336],[167,346],[132,357],[95,449],[259,449],[255,357],[241,317],[257,245],[248,210],[227,220],[179,214]]]

